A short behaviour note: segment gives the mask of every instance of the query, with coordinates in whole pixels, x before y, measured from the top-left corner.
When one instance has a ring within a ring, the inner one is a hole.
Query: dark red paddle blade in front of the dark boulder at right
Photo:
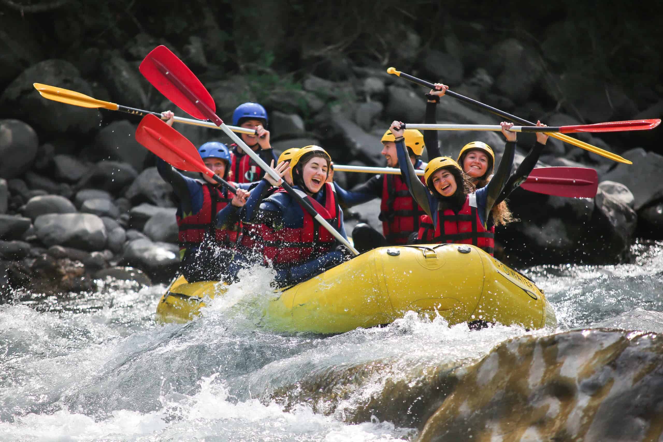
[[[585,167],[541,167],[520,185],[530,192],[570,198],[593,198],[599,186],[596,170]]]

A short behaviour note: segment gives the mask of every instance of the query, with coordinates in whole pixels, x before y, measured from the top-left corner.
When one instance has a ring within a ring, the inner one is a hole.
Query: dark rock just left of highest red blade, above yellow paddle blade
[[[121,103],[127,97],[131,97],[135,107],[144,109],[147,105],[147,94],[143,89],[141,74],[135,66],[129,64],[116,52],[107,51],[103,54],[101,78],[115,103]]]

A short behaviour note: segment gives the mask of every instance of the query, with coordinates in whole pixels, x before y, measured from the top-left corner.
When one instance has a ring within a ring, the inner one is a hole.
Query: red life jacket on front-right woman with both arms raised
[[[438,211],[438,222],[433,225],[431,217],[422,215],[418,234],[420,244],[454,243],[471,244],[493,256],[495,249],[495,226],[485,229],[479,219],[474,194],[467,195],[465,204],[458,213],[452,209]],[[474,205],[472,205],[474,204]],[[443,226],[440,228],[440,226]]]

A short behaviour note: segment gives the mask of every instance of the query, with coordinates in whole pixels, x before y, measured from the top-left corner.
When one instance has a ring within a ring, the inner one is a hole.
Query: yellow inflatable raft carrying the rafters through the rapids
[[[156,307],[163,322],[186,322],[204,300],[222,296],[216,282],[176,278]],[[261,324],[276,331],[344,333],[389,324],[406,311],[461,322],[556,327],[556,317],[532,280],[483,250],[457,244],[381,247],[296,286],[274,292]]]

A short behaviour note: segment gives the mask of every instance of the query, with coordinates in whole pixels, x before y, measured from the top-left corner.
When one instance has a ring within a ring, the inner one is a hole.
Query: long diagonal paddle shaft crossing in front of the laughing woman
[[[210,121],[212,121],[215,125],[221,128],[225,134],[231,138],[237,145],[244,150],[244,152],[251,157],[253,161],[255,161],[263,170],[265,170],[265,173],[269,174],[276,182],[279,182],[281,180],[281,177],[278,176],[275,170],[273,170],[270,166],[267,166],[267,164],[260,158],[247,144],[240,138],[233,133],[233,131],[230,130],[229,127],[223,123],[223,120],[219,118],[218,115],[211,109],[204,101],[198,99],[196,95],[180,80],[177,76],[174,76],[170,74],[168,71],[168,68],[164,66],[159,60],[156,60],[155,58],[152,58],[152,62],[154,63],[154,66],[161,72],[162,75],[166,76],[170,80],[170,82],[188,99],[190,102],[195,103],[196,107],[198,110],[203,113]],[[325,229],[333,235],[337,241],[339,241],[341,244],[345,245],[353,254],[358,255],[359,252],[357,249],[352,247],[352,245],[347,241],[347,239],[343,238],[343,236],[336,231],[333,227],[331,227],[330,223],[326,221],[322,216],[320,216],[320,213],[314,209],[312,205],[306,199],[302,198],[300,195],[298,195],[297,192],[294,191],[293,188],[291,188],[288,183],[285,181],[282,184],[283,188],[288,192],[290,197],[294,198],[295,201],[297,201],[306,211],[322,225]]]

